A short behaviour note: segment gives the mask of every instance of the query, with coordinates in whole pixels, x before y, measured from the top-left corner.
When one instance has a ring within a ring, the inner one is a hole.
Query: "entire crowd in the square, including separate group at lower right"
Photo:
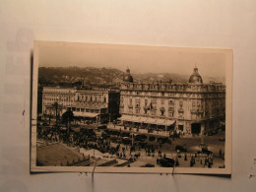
[[[129,136],[129,137],[123,137]],[[124,140],[127,138],[128,140]],[[111,157],[123,160],[138,160],[141,157],[154,158],[158,163],[160,159],[165,159],[166,154],[162,153],[162,143],[156,138],[154,143],[148,142],[145,139],[136,140],[129,133],[121,133],[116,131],[107,131],[87,128],[68,129],[57,126],[37,126],[37,139],[49,143],[60,142],[70,147],[84,148],[85,150],[97,150],[102,155],[110,154]],[[149,139],[149,138],[148,138]],[[164,151],[164,150],[163,150]],[[179,152],[178,152],[179,153]],[[178,154],[177,153],[177,154]],[[194,154],[187,155],[187,152],[182,153],[184,160],[190,160],[190,166],[200,163],[202,166],[212,167],[214,163],[213,154]],[[220,153],[222,154],[222,152]],[[221,156],[221,155],[220,155]],[[170,157],[175,159],[175,157]]]

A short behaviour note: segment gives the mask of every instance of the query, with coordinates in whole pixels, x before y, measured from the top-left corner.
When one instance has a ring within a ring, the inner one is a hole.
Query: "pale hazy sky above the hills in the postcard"
[[[38,50],[39,67],[128,67],[132,74],[191,75],[197,66],[202,77],[225,77],[224,49],[43,42]]]

